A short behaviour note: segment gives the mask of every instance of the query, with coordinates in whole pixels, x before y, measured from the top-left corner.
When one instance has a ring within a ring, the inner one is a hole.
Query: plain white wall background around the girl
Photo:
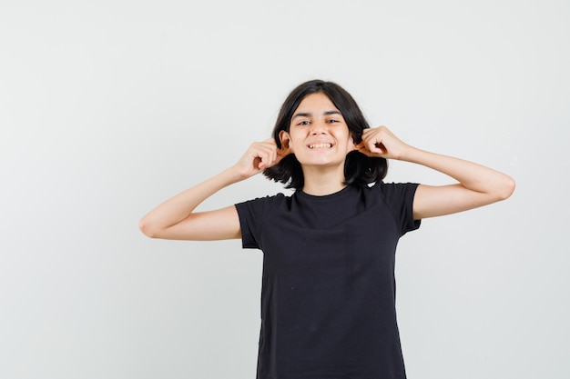
[[[408,376],[570,377],[568,20],[565,0],[2,1],[0,377],[253,378],[262,254],[137,223],[312,78],[517,182],[402,239]],[[201,209],[280,191],[256,176]]]

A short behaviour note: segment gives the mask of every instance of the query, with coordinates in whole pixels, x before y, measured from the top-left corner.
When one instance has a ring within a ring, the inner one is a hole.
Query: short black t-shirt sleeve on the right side
[[[379,183],[375,185],[382,194],[384,202],[390,208],[400,235],[416,230],[421,220],[413,219],[413,196],[418,184],[415,183]]]

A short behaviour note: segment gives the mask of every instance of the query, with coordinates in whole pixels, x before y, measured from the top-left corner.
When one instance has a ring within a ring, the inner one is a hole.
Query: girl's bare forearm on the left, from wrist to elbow
[[[147,235],[158,234],[159,231],[186,219],[198,204],[201,204],[212,194],[243,179],[235,167],[230,167],[159,204],[140,220],[140,230]]]

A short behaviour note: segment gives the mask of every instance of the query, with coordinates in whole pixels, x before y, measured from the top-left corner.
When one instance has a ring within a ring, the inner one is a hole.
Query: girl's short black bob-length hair
[[[362,141],[362,132],[369,128],[368,122],[362,115],[361,109],[352,96],[340,85],[322,80],[310,80],[295,88],[281,105],[277,122],[273,128],[273,138],[281,147],[280,131],[289,133],[291,117],[300,102],[311,94],[327,95],[348,125],[349,132],[355,144]],[[358,151],[351,151],[344,162],[345,185],[369,185],[378,183],[388,173],[388,162],[384,158],[369,157]],[[286,188],[302,189],[304,185],[303,172],[300,162],[295,155],[285,156],[278,165],[263,170],[263,175],[276,182],[283,183]]]

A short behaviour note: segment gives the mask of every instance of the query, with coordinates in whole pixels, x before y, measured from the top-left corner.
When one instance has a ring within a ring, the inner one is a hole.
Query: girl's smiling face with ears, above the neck
[[[346,155],[356,148],[341,111],[322,93],[307,95],[300,102],[291,117],[289,133],[282,131],[280,139],[303,166],[343,168]]]

